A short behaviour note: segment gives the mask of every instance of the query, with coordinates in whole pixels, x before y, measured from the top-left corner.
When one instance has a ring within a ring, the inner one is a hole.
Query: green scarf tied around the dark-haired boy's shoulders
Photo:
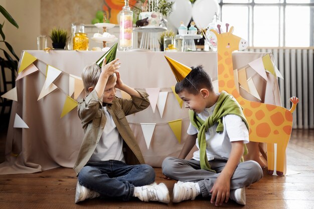
[[[211,116],[209,116],[206,121],[203,121],[200,117],[195,114],[193,110],[189,110],[189,117],[192,125],[197,128],[199,131],[197,137],[200,147],[200,164],[201,168],[205,170],[209,170],[212,172],[216,172],[211,169],[210,164],[207,159],[206,154],[206,137],[205,132],[208,131],[208,128],[213,126],[216,122],[218,122],[218,126],[216,129],[216,132],[221,132],[224,130],[224,125],[222,122],[222,118],[225,115],[238,115],[242,118],[242,120],[245,122],[247,129],[249,130],[249,125],[245,119],[245,116],[242,112],[242,107],[239,105],[239,103],[235,100],[235,98],[228,94],[225,91],[222,91],[214,109],[214,112]],[[248,153],[247,147],[244,144],[244,155]],[[241,159],[241,162],[243,161],[243,157]]]

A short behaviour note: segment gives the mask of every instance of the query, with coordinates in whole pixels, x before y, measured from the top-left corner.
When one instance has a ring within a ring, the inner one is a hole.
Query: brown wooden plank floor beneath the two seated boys
[[[0,133],[0,154],[4,154],[5,131]],[[293,130],[287,149],[288,172],[298,174],[264,177],[246,188],[246,205],[234,201],[223,208],[314,208],[314,130]],[[156,182],[165,182],[172,194],[175,180],[165,180],[155,168]],[[74,203],[77,178],[71,168],[56,168],[33,174],[0,175],[0,208],[215,208],[209,198],[164,204],[136,198],[123,202],[89,199]]]

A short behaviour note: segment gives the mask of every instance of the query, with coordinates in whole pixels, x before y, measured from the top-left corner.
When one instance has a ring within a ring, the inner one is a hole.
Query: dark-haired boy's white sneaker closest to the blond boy
[[[182,182],[175,183],[173,190],[173,202],[181,202],[183,200],[194,200],[200,192],[197,191],[195,182]]]

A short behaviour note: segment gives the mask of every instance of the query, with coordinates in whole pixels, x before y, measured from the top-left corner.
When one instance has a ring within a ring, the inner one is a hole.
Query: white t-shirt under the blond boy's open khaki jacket
[[[116,128],[112,116],[106,107],[103,107],[107,118],[102,135],[89,162],[119,160],[124,162],[122,151],[123,139]]]

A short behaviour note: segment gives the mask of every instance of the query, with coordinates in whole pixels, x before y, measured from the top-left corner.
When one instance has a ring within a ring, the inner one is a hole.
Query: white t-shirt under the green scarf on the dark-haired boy
[[[200,114],[197,114],[202,120],[206,120],[213,114],[215,105],[210,108],[206,108]],[[249,133],[246,128],[245,122],[237,115],[226,115],[222,119],[224,125],[224,131],[217,133],[216,128],[218,123],[215,123],[205,133],[206,136],[206,153],[207,159],[212,160],[214,158],[228,159],[231,152],[232,141],[243,141],[249,143]],[[198,130],[191,124],[187,131],[188,134],[194,135],[198,133]],[[193,154],[193,159],[200,160],[200,147],[198,139],[196,139],[197,151]]]

